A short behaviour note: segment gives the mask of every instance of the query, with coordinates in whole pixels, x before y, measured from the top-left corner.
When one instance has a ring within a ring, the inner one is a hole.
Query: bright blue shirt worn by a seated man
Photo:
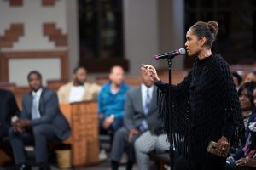
[[[111,82],[102,86],[98,95],[98,114],[104,114],[104,118],[114,115],[117,119],[122,119],[125,110],[125,96],[129,86],[123,82],[118,93],[111,91]]]

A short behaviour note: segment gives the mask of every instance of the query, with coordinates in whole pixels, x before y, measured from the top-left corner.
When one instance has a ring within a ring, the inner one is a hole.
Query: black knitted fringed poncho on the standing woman
[[[209,142],[218,142],[221,136],[230,139],[231,145],[241,145],[244,125],[236,86],[220,55],[195,59],[183,82],[171,86],[170,102],[168,84],[157,82],[156,86],[168,139],[184,156],[200,159]]]

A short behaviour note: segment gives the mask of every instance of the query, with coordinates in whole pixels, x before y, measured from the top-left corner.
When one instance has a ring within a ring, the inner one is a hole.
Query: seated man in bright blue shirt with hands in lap
[[[121,66],[112,67],[109,80],[98,95],[98,114],[100,130],[115,133],[123,126],[125,94],[129,87],[124,82],[124,69]]]

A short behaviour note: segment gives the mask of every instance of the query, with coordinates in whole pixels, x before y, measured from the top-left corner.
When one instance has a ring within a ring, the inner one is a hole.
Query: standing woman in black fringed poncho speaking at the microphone
[[[152,65],[142,67],[158,87],[158,106],[168,139],[188,159],[192,170],[224,170],[224,155],[230,144],[239,146],[244,139],[239,99],[229,66],[219,54],[212,54],[217,34],[216,21],[199,21],[189,28],[185,48],[189,56],[195,57],[195,63],[176,86],[161,82]],[[211,141],[217,143],[215,155],[207,151]]]

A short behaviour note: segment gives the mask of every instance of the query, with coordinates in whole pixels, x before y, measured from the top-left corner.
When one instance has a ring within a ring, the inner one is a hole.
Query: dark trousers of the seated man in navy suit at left
[[[26,130],[24,133],[16,133],[14,128],[9,129],[9,140],[15,156],[15,164],[26,163],[26,154],[24,143],[35,143],[36,162],[48,163],[48,148],[47,142],[55,140],[54,127],[50,124],[43,124],[32,127],[31,130]]]

